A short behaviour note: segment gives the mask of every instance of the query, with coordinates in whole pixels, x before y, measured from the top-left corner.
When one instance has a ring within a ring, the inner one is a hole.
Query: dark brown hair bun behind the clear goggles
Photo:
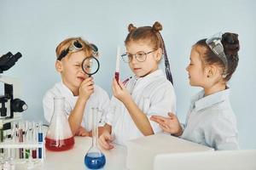
[[[222,35],[222,43],[224,45],[224,52],[228,55],[237,55],[240,45],[238,40],[238,34],[225,32]]]

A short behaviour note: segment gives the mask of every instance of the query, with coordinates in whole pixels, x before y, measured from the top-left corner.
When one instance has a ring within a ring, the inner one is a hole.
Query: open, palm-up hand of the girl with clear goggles
[[[178,122],[177,116],[173,113],[168,113],[169,117],[151,116],[150,120],[159,123],[160,127],[166,132],[175,136],[180,136],[183,133],[183,128]]]

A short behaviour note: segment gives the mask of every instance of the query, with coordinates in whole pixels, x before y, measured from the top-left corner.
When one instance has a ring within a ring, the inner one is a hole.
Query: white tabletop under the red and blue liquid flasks
[[[54,152],[46,150],[44,161],[45,170],[82,170],[86,169],[84,165],[84,156],[90,149],[91,138],[75,137],[75,144],[72,150]],[[113,150],[102,150],[106,156],[106,165],[104,170],[127,169],[125,167],[126,148],[114,144]]]

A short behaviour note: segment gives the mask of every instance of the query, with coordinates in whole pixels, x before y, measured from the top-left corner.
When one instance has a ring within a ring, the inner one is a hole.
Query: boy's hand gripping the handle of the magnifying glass
[[[84,81],[80,85],[79,97],[82,97],[87,100],[90,98],[90,94],[93,94],[93,92],[94,92],[93,77],[88,77],[84,79]]]

